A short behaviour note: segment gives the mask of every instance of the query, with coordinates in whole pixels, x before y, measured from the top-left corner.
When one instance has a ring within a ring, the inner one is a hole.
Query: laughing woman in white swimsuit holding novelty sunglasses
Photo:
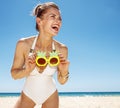
[[[26,77],[15,108],[34,108],[36,104],[42,105],[42,108],[58,108],[58,91],[52,76],[57,71],[59,83],[64,84],[69,75],[68,49],[53,39],[62,23],[60,10],[55,3],[47,2],[38,4],[34,9],[34,15],[39,34],[17,42],[11,68],[14,79]],[[45,65],[39,65],[41,55],[44,55]],[[52,60],[49,59],[53,55],[57,58],[57,65],[52,64]]]

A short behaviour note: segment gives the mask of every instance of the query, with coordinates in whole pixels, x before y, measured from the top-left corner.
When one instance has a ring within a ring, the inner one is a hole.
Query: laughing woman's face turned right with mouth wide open
[[[59,10],[56,8],[50,8],[45,14],[43,14],[39,25],[40,32],[45,35],[55,36],[60,30],[61,23],[62,19]]]

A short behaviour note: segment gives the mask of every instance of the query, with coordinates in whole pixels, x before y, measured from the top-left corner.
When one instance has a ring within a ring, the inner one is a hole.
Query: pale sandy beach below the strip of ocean
[[[0,108],[13,108],[18,97],[0,97]],[[40,108],[40,106],[35,106]],[[64,97],[59,108],[120,108],[120,96]]]

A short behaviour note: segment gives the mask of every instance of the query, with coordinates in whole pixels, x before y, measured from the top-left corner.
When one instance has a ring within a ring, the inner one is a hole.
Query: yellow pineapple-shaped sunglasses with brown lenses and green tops
[[[50,52],[49,58],[46,57],[46,52],[38,51],[35,61],[37,66],[46,66],[47,64],[50,66],[57,66],[60,63],[57,51]]]

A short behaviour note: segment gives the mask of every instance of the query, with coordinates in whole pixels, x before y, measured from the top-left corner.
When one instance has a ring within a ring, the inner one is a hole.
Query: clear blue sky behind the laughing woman
[[[0,3],[0,92],[21,92],[25,78],[10,69],[16,43],[37,35],[31,11],[48,0],[2,0]],[[69,80],[59,92],[120,91],[120,0],[51,0],[62,16],[55,37],[69,50]]]

